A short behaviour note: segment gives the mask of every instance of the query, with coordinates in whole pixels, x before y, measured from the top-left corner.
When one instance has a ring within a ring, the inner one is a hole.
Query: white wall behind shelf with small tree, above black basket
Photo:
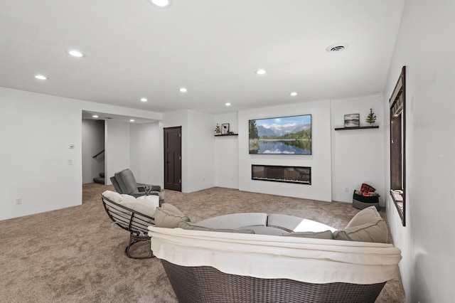
[[[335,130],[336,127],[343,127],[346,114],[360,114],[360,126],[368,126],[365,119],[370,108],[375,112],[375,125],[379,129]],[[376,188],[380,194],[380,206],[385,206],[382,108],[382,95],[331,101],[333,201],[352,203],[353,191],[360,189],[362,183],[367,183]]]

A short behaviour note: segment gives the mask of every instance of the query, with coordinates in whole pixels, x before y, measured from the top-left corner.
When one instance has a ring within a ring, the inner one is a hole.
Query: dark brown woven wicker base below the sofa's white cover
[[[209,266],[185,267],[161,260],[178,302],[375,302],[385,282],[314,284],[289,279],[230,275]],[[303,269],[304,270],[304,269]]]

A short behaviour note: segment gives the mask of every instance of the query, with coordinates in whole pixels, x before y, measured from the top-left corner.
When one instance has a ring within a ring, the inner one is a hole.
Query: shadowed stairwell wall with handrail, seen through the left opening
[[[93,183],[105,171],[105,154],[93,156],[105,149],[105,122],[82,119],[82,184]]]

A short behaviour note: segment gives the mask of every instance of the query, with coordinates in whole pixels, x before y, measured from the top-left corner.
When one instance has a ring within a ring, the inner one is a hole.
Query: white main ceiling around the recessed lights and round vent
[[[0,86],[154,112],[370,95],[384,89],[403,3],[1,0]],[[349,47],[326,52],[335,43]]]

